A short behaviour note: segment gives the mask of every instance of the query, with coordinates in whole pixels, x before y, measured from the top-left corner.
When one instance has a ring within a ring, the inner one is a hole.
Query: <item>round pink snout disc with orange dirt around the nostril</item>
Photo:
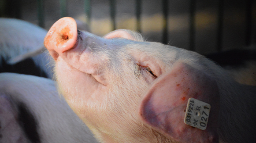
[[[73,18],[61,18],[45,36],[45,47],[56,60],[59,54],[70,50],[77,42],[77,25]]]

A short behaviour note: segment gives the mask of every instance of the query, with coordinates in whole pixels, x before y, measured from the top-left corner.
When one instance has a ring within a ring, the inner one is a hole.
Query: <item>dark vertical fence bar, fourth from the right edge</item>
[[[162,42],[167,44],[168,39],[168,0],[163,0],[163,39]]]

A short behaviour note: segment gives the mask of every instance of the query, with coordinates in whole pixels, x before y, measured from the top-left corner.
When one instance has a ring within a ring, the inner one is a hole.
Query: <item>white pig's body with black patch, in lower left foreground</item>
[[[21,122],[22,118],[34,118],[35,122]],[[59,97],[55,82],[32,75],[1,73],[0,143],[98,142]]]

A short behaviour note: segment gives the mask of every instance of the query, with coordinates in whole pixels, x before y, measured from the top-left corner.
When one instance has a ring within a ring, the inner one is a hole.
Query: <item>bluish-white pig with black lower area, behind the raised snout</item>
[[[45,29],[30,22],[0,18],[0,72],[52,78],[51,57],[44,46],[46,34]]]

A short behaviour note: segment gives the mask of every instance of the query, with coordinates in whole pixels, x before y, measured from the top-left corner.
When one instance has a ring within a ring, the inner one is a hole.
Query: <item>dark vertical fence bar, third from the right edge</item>
[[[196,0],[190,0],[189,6],[189,50],[195,50],[195,11]]]

